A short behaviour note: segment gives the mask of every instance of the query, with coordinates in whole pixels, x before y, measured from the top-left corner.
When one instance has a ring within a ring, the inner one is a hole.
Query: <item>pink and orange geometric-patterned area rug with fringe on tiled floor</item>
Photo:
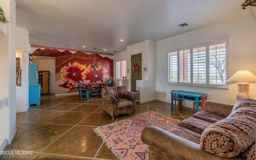
[[[179,120],[149,111],[111,124],[94,128],[111,148],[115,156],[121,160],[148,160],[149,146],[140,139],[142,130],[153,125],[163,130],[169,130],[177,125]]]

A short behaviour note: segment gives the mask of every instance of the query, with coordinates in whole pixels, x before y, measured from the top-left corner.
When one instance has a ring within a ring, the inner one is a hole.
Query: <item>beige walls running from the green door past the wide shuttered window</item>
[[[128,46],[126,48],[127,50],[124,52],[115,54],[114,62],[120,59],[127,59],[127,68],[131,68],[130,55],[142,52],[142,67],[148,67],[147,74],[142,74],[144,80],[140,82],[142,87],[140,88],[142,90],[141,94],[143,94],[141,96],[144,97],[142,98],[142,101],[146,102],[148,100],[156,99],[170,103],[171,90],[186,90],[191,92],[207,93],[208,100],[234,104],[236,102],[236,94],[238,92],[236,83],[230,83],[229,89],[167,84],[167,51],[228,38],[228,77],[232,76],[236,71],[241,70],[241,68],[256,74],[255,26],[256,21],[253,19],[251,14],[226,22],[220,22],[218,24],[157,41],[155,43],[156,55],[154,55],[154,47],[150,47],[154,46],[154,41],[143,41]],[[127,74],[127,78],[130,78],[130,74]],[[154,78],[156,78],[156,80],[154,80]],[[147,80],[152,80],[154,84],[151,82],[148,83]],[[149,87],[154,88],[154,90],[148,91],[147,89]],[[147,92],[143,93],[144,90],[147,90]],[[152,95],[155,97],[152,98]],[[256,99],[255,83],[250,83],[250,95],[252,98]],[[192,107],[192,102],[185,101],[184,106]]]

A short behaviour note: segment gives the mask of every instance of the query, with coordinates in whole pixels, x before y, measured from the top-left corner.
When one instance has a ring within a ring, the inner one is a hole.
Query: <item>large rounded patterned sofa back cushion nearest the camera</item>
[[[255,141],[255,117],[233,116],[210,125],[201,136],[202,150],[224,158],[237,156]]]

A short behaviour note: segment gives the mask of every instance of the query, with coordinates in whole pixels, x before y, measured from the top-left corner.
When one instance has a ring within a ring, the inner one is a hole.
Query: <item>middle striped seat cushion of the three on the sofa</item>
[[[212,123],[210,123],[210,122],[206,122],[206,121],[198,119],[198,118],[190,117],[190,118],[187,118],[185,120],[178,122],[177,125],[188,128],[194,132],[197,132],[198,134],[202,134],[202,132],[205,130],[205,128],[207,128],[211,124]]]

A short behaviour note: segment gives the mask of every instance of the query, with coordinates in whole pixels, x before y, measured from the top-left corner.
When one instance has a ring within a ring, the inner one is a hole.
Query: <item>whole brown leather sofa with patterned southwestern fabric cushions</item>
[[[256,100],[236,104],[206,101],[202,111],[166,131],[147,126],[142,142],[150,160],[255,159]]]

